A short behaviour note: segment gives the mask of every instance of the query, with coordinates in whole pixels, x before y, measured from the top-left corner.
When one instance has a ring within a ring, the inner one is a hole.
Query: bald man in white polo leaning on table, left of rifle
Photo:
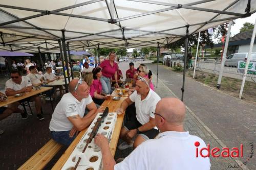
[[[54,109],[50,122],[51,137],[58,143],[70,145],[78,131],[91,125],[97,114],[97,107],[90,96],[90,86],[74,79],[69,83],[69,93],[61,98]],[[84,116],[85,109],[89,113]]]

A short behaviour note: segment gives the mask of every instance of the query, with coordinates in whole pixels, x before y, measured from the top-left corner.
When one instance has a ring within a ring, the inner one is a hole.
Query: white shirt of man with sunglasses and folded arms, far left
[[[7,80],[5,83],[5,90],[7,88],[11,88],[15,91],[21,90],[24,87],[32,86],[32,83],[28,77],[22,76],[22,82],[20,84],[16,84],[12,81],[12,79]]]

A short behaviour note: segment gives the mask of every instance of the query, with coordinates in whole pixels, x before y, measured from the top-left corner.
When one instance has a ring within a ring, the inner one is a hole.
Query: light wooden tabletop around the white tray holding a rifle
[[[118,96],[116,89],[113,91],[112,96]],[[113,101],[112,98],[111,98],[111,100],[105,100],[102,103],[101,106],[104,106],[104,107],[108,106],[109,107],[109,112],[115,112],[116,109],[121,106],[121,103],[123,102],[123,100],[125,100],[126,98],[127,98],[127,96],[126,97],[121,97],[121,99],[119,101]],[[111,139],[110,144],[109,144],[110,145],[110,151],[111,151],[113,157],[116,153],[116,147],[117,147],[121,127],[122,127],[122,124],[123,124],[123,118],[124,118],[124,114],[117,115],[117,121],[116,121],[115,129],[114,129],[113,136],[112,136],[112,139]],[[65,153],[55,163],[55,165],[52,168],[53,170],[62,168],[62,166],[66,163],[69,156],[71,155],[71,153],[75,149],[77,143],[80,141],[82,136],[86,133],[86,131],[87,131],[87,129],[84,129],[83,131],[81,131],[77,135],[75,140],[70,144],[69,148],[65,151]]]

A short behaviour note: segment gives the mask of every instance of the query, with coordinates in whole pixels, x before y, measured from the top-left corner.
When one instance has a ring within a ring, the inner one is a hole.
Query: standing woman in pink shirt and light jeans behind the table
[[[117,81],[117,70],[118,70],[118,65],[115,62],[116,58],[116,53],[115,52],[110,52],[109,54],[109,60],[105,60],[100,63],[99,67],[102,68],[102,77],[100,78],[100,82],[102,85],[102,91],[105,94],[111,94],[111,78],[112,76],[115,77],[115,86],[118,86],[118,81]]]

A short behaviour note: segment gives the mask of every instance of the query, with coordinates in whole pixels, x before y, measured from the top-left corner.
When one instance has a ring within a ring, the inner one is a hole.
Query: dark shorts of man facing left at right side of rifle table
[[[132,129],[137,129],[141,126],[142,125],[139,123],[139,121],[136,118],[136,120],[128,121],[124,125],[124,128],[126,130],[132,130]],[[140,134],[138,135],[141,135],[145,140],[148,140],[148,139],[154,139],[158,135],[158,133],[159,131],[157,129],[152,128],[151,130],[140,132]]]

